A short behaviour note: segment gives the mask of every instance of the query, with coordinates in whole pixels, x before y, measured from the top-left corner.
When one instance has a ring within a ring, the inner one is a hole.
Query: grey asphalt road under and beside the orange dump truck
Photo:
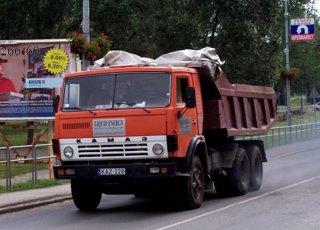
[[[230,198],[206,192],[196,210],[184,211],[169,199],[102,195],[92,212],[64,201],[3,214],[0,229],[319,229],[319,148],[312,141],[267,151],[259,191]]]

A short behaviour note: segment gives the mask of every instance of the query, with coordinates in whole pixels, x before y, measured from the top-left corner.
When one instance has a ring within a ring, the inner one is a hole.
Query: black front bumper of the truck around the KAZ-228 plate
[[[159,173],[150,173],[150,168],[159,167]],[[125,175],[98,175],[98,168],[125,168]],[[166,168],[166,173],[161,172]],[[60,169],[74,169],[74,175],[60,175]],[[59,165],[53,166],[55,179],[107,179],[107,178],[165,178],[176,175],[174,163],[133,163],[116,165]]]

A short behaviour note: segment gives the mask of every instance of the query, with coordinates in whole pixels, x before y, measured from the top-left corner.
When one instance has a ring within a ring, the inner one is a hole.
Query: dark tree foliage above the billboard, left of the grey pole
[[[0,0],[0,39],[66,38],[82,23],[82,2],[76,0]]]

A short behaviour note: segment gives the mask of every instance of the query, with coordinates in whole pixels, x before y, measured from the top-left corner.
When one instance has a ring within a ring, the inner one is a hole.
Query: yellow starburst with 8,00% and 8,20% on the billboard
[[[48,50],[48,53],[44,55],[44,66],[51,73],[64,72],[69,63],[69,58],[66,52],[60,48],[53,48]]]

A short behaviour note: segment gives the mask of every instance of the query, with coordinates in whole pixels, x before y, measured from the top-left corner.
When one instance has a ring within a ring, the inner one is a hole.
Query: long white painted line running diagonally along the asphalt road
[[[306,183],[306,182],[308,182],[308,181],[311,181],[311,180],[314,180],[314,179],[317,179],[317,178],[320,178],[320,176],[318,176],[318,177],[313,177],[313,178],[310,178],[310,179],[308,179],[308,180],[304,180],[304,181],[301,181],[301,182],[299,182],[299,183],[296,183],[296,184],[293,184],[293,185],[289,185],[289,186],[287,186],[287,187],[280,188],[280,189],[274,190],[274,191],[269,192],[269,193],[264,193],[264,194],[262,194],[262,195],[260,195],[260,196],[252,197],[252,198],[247,199],[247,200],[245,200],[245,201],[240,201],[240,202],[238,202],[238,203],[230,204],[230,205],[228,205],[228,206],[226,206],[226,207],[224,207],[224,208],[216,209],[216,210],[214,210],[214,211],[207,212],[207,213],[204,213],[204,214],[202,214],[202,215],[199,215],[199,216],[196,216],[196,217],[193,217],[193,218],[189,218],[189,219],[186,219],[186,220],[184,220],[184,221],[180,221],[180,222],[175,223],[175,224],[172,224],[172,225],[168,225],[168,226],[165,226],[165,227],[162,227],[162,228],[158,228],[158,229],[156,229],[156,230],[168,229],[168,228],[170,228],[170,227],[174,227],[174,226],[177,226],[177,225],[186,223],[186,222],[188,222],[188,221],[195,220],[195,219],[197,219],[197,218],[201,218],[201,217],[210,215],[210,214],[215,213],[215,212],[223,211],[223,210],[228,209],[228,208],[231,208],[231,207],[233,207],[233,206],[235,206],[235,205],[237,205],[237,204],[246,203],[246,202],[248,202],[248,201],[252,201],[252,200],[258,199],[258,198],[260,198],[260,197],[267,196],[267,195],[269,195],[269,194],[276,193],[276,192],[279,192],[279,191],[281,191],[281,190],[284,190],[284,189],[287,189],[287,188],[291,188],[291,187],[293,187],[293,186],[300,185],[300,184]]]

